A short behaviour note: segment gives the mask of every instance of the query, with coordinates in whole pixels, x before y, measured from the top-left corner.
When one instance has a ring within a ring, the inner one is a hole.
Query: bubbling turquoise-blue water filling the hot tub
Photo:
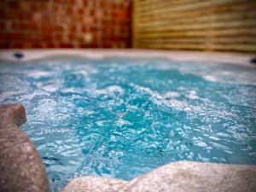
[[[0,64],[0,102],[51,189],[73,177],[130,180],[176,160],[256,164],[256,67],[164,59],[52,59]]]

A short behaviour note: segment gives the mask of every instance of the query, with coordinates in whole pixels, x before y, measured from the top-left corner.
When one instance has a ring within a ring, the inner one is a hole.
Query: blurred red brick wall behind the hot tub
[[[127,48],[131,0],[0,0],[0,48]]]

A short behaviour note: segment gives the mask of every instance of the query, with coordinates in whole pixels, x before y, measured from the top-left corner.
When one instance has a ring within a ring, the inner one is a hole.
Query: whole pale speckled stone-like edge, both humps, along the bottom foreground
[[[255,192],[256,166],[178,161],[161,166],[131,182],[101,177],[75,178],[61,192],[74,191]]]

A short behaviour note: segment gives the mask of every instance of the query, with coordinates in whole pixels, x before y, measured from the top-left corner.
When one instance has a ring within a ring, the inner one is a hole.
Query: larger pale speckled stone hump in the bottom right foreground
[[[256,166],[179,161],[137,177],[125,191],[256,191]]]

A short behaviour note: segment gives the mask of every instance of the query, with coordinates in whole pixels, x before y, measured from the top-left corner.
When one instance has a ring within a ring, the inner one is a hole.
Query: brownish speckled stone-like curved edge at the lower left
[[[26,122],[20,104],[0,106],[0,191],[47,192],[44,166],[19,126]]]

